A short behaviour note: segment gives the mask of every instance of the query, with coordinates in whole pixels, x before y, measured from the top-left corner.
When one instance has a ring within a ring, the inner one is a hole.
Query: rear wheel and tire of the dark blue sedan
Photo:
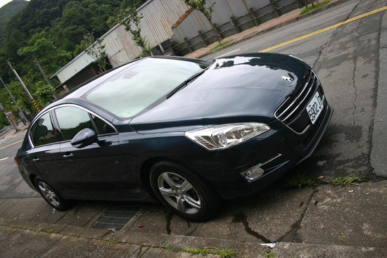
[[[59,193],[49,185],[49,183],[40,177],[36,177],[34,183],[37,191],[39,191],[44,200],[46,200],[46,202],[52,207],[60,211],[64,211],[70,207],[70,202],[68,200],[64,200],[61,195],[59,195]]]

